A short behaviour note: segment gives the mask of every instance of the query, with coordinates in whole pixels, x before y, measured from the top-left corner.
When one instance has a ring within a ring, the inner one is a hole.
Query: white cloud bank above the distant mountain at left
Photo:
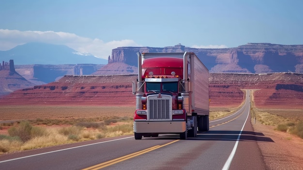
[[[18,45],[30,42],[41,42],[57,45],[66,45],[79,52],[108,59],[111,51],[119,46],[140,46],[133,40],[103,42],[100,39],[91,39],[69,32],[54,31],[18,31],[0,29],[0,50],[9,50]]]

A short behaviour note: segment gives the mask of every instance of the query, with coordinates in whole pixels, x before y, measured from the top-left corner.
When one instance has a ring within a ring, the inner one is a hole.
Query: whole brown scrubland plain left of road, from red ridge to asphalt
[[[4,121],[0,131],[10,132],[0,135],[0,154],[129,135],[134,111],[134,107],[0,107]]]

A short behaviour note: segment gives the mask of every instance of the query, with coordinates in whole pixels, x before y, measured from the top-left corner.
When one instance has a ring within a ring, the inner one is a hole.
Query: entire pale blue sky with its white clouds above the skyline
[[[303,0],[0,0],[0,50],[62,44],[107,59],[119,46],[303,45]]]

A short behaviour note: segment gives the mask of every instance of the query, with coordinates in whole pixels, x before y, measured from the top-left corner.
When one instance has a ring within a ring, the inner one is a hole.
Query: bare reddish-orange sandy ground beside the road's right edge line
[[[274,130],[274,126],[252,122],[255,132],[274,142],[258,141],[268,170],[303,170],[303,139]]]

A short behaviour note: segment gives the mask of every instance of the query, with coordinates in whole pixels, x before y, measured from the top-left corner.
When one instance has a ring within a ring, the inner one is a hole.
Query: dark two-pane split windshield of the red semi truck
[[[162,87],[162,89],[161,89]],[[170,92],[178,93],[178,82],[148,82],[146,83],[147,92]]]

